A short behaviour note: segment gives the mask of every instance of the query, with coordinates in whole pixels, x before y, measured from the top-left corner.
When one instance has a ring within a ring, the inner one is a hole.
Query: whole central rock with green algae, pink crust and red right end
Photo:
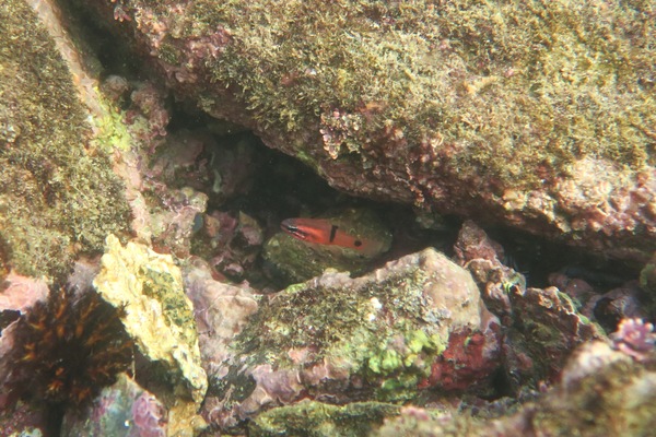
[[[477,391],[496,367],[496,322],[469,273],[433,249],[355,280],[325,273],[260,303],[210,375],[204,415],[230,428],[300,398]]]

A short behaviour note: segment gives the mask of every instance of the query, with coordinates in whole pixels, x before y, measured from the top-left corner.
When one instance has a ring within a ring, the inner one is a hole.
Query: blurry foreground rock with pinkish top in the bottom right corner
[[[647,436],[656,421],[656,373],[605,342],[582,346],[562,381],[516,414],[484,420],[455,410],[403,409],[372,437]]]

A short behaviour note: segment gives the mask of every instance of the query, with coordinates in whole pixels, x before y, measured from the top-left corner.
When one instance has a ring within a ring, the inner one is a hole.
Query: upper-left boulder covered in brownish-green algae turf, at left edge
[[[21,0],[0,5],[0,271],[61,279],[124,234],[129,208],[72,76]]]

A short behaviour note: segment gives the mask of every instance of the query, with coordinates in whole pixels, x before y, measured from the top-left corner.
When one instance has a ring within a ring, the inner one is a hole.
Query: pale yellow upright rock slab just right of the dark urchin
[[[105,300],[125,308],[124,324],[148,368],[160,383],[172,386],[171,392],[157,392],[171,409],[172,433],[200,426],[202,421],[192,422],[207,390],[207,377],[200,366],[191,302],[172,257],[138,243],[124,247],[109,235],[93,284]]]

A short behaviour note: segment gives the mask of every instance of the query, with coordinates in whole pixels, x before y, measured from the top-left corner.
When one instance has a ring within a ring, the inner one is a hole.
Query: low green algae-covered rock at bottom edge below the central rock
[[[365,437],[399,406],[379,402],[354,402],[343,406],[303,401],[258,415],[248,426],[249,436]]]

